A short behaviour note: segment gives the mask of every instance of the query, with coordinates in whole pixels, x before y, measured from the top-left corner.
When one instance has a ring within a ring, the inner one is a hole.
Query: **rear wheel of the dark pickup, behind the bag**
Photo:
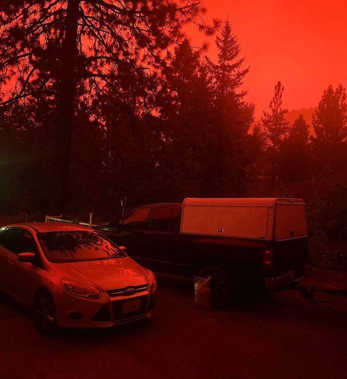
[[[231,279],[228,270],[218,264],[210,264],[200,270],[198,276],[211,279],[211,305],[223,309],[230,303]]]

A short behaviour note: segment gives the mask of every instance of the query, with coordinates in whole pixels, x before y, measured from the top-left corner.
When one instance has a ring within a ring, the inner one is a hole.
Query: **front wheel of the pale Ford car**
[[[46,291],[39,292],[34,301],[34,323],[37,331],[45,336],[55,334],[58,329],[54,301]]]

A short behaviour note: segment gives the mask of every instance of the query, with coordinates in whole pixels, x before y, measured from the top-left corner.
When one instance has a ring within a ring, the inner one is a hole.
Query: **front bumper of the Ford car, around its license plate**
[[[140,302],[140,309],[123,313],[123,303]],[[61,327],[107,328],[151,317],[154,313],[157,292],[150,290],[132,296],[110,297],[102,292],[99,299],[87,299],[67,292],[55,299],[57,323]]]

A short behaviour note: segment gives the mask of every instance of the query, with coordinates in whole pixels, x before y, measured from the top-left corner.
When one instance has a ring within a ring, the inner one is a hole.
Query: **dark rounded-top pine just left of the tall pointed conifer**
[[[213,104],[200,70],[200,52],[183,41],[164,67],[163,79],[156,99],[163,135],[156,169],[162,185],[157,187],[177,201],[206,196],[214,143]]]

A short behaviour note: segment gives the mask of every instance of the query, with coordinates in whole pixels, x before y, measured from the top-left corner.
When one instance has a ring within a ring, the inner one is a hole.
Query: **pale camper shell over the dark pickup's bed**
[[[307,236],[305,203],[291,198],[184,199],[180,233],[260,240]]]

